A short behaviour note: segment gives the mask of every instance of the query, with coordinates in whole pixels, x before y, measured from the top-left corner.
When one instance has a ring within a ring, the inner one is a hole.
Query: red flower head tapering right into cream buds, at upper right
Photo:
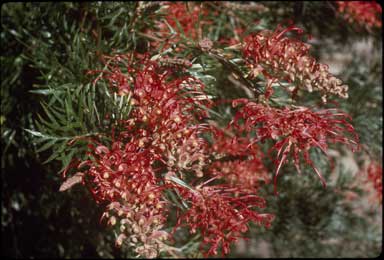
[[[310,46],[299,39],[284,37],[289,31],[302,30],[290,26],[275,31],[263,30],[245,39],[244,57],[251,67],[251,76],[260,72],[270,80],[287,80],[297,91],[304,88],[309,92],[320,91],[323,102],[330,94],[348,98],[348,86],[333,76],[328,66],[317,63],[309,55]],[[271,87],[268,85],[268,87]],[[270,92],[270,91],[269,91]]]

